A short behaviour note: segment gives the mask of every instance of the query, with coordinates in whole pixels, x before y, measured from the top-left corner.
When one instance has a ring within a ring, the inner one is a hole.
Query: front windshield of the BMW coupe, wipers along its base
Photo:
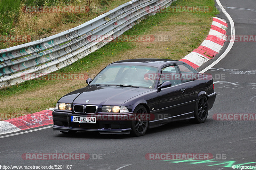
[[[158,68],[136,65],[109,65],[90,85],[124,86],[152,89],[156,83]]]

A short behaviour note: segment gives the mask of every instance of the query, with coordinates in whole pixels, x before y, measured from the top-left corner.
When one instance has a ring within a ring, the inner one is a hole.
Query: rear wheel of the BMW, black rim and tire
[[[204,123],[208,116],[208,100],[205,96],[200,96],[196,102],[195,107],[195,123]]]

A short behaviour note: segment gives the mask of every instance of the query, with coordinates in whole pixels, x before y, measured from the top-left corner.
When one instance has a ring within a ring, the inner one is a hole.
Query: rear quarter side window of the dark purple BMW
[[[198,78],[198,72],[190,66],[185,64],[178,64],[178,67],[180,69],[183,82],[195,80]]]

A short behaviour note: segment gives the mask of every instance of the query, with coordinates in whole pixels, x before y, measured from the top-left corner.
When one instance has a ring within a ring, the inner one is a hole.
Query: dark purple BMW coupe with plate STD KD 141
[[[86,83],[60,98],[53,130],[141,136],[176,120],[203,123],[216,97],[212,75],[169,59],[117,61]]]

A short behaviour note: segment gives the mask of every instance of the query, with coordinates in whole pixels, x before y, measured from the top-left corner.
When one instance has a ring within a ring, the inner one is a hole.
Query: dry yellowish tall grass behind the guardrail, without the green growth
[[[89,21],[111,9],[118,7],[121,4],[128,2],[129,0],[93,0],[90,5],[90,11],[85,13],[28,13],[22,12],[22,7],[26,6],[23,2],[20,4],[18,11],[18,18],[14,16],[11,19],[15,20],[12,25],[10,33],[1,33],[3,35],[28,35],[31,37],[31,41],[39,40],[51,35],[58,34],[70,28],[79,26],[86,21]],[[58,1],[60,4],[54,4],[53,6],[66,5],[62,4],[62,1]],[[68,2],[68,1],[67,1]],[[105,4],[102,4],[105,2]],[[84,6],[86,1],[71,1],[71,6]],[[7,12],[8,13],[8,12]],[[0,29],[1,30],[1,29]],[[30,42],[30,41],[28,41]],[[20,45],[28,42],[0,42],[0,49],[9,48],[15,45]]]

